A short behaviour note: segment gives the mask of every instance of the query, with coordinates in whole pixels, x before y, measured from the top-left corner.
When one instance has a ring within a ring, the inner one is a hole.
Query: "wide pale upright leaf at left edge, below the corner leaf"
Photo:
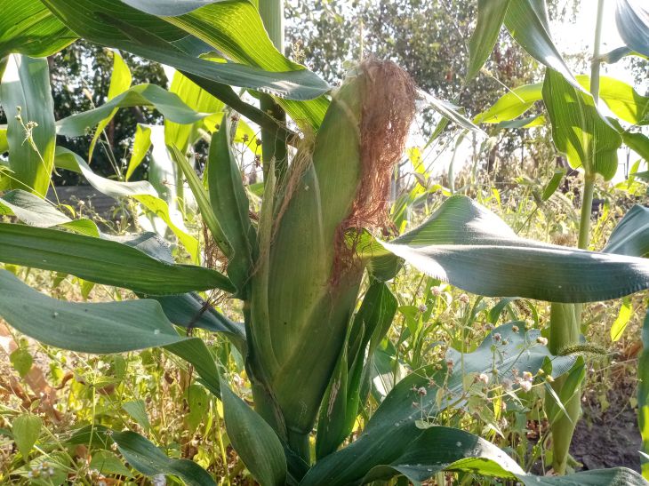
[[[50,185],[56,144],[47,60],[9,56],[0,84],[0,102],[8,122],[10,185],[44,197]],[[28,128],[29,123],[36,125]]]

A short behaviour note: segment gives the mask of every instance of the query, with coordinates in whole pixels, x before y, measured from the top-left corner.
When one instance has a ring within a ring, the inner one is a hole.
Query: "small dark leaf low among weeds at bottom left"
[[[124,459],[148,476],[172,474],[180,477],[188,486],[216,486],[212,476],[201,466],[188,459],[173,459],[164,455],[153,442],[135,432],[113,432],[110,438]]]

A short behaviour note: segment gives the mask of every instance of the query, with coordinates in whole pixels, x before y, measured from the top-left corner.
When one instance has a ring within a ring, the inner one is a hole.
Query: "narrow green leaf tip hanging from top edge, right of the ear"
[[[508,6],[509,0],[478,0],[477,26],[469,40],[467,80],[477,75],[492,53]]]

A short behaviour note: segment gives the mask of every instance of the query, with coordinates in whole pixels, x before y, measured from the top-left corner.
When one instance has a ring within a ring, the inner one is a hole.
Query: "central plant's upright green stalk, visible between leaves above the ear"
[[[268,32],[270,41],[275,45],[277,51],[284,54],[284,0],[259,0],[259,12],[264,27]],[[268,94],[260,95],[261,111],[281,125],[286,124],[284,110]],[[268,174],[270,161],[275,158],[275,173],[277,180],[281,180],[288,168],[287,139],[277,131],[261,128],[261,159],[264,167],[264,179]]]

